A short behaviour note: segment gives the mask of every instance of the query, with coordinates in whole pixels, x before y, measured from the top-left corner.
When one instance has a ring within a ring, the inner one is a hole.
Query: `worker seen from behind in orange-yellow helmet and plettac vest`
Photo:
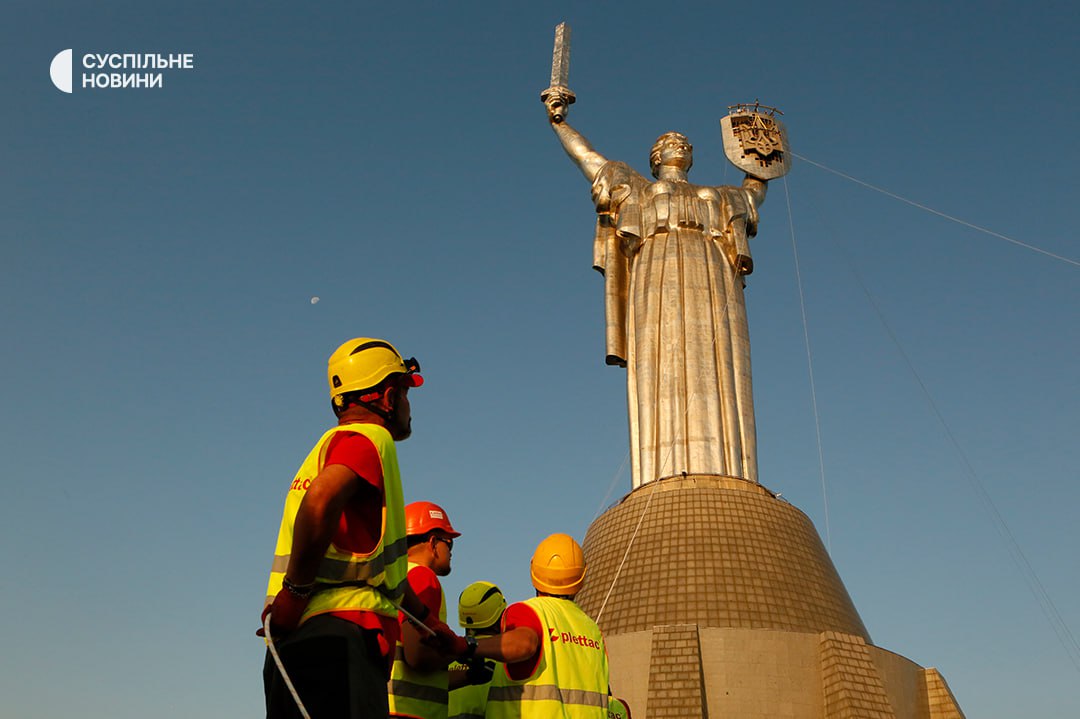
[[[486,716],[607,719],[604,637],[573,603],[585,578],[581,546],[568,534],[552,534],[537,546],[529,572],[537,596],[507,609],[500,635],[473,639],[462,652],[465,660],[505,663],[501,680],[488,690]]]

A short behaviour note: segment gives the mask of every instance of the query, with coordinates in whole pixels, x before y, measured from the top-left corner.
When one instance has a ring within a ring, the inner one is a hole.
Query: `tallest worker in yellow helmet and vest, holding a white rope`
[[[408,391],[423,384],[419,369],[389,342],[366,337],[330,355],[337,425],[288,487],[262,611],[267,641],[296,690],[294,696],[268,651],[268,719],[300,717],[299,704],[313,717],[387,717],[399,607],[444,643],[459,639],[405,581],[405,503],[394,443],[411,434]]]

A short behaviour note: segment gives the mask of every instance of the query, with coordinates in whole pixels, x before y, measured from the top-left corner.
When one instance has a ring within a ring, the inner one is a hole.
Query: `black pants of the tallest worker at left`
[[[387,661],[374,632],[314,616],[274,647],[311,719],[387,719]],[[262,689],[267,719],[302,717],[269,650]]]

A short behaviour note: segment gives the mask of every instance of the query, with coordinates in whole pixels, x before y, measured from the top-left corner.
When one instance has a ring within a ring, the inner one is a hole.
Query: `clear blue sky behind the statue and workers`
[[[259,716],[284,492],[348,337],[423,365],[400,453],[407,499],[464,534],[451,602],[523,598],[536,542],[629,490],[589,187],[538,100],[562,19],[570,120],[609,158],[646,172],[680,130],[692,179],[738,181],[718,120],[760,98],[799,154],[1080,259],[1074,4],[579,5],[4,5],[5,717]],[[195,68],[65,95],[67,48]],[[771,185],[761,481],[823,537],[792,228],[827,533],[875,643],[970,717],[1074,719],[1078,668],[973,486],[1080,633],[1080,268],[806,162]]]

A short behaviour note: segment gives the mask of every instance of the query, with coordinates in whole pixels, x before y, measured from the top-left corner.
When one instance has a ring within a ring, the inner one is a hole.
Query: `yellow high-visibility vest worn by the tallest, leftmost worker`
[[[368,554],[354,554],[330,542],[319,572],[315,593],[303,612],[305,620],[326,612],[363,610],[384,616],[397,616],[397,608],[405,593],[407,546],[405,542],[405,500],[402,494],[401,473],[397,470],[397,449],[384,428],[378,424],[352,423],[336,426],[320,438],[300,465],[285,498],[285,511],[278,531],[278,546],[270,568],[267,602],[281,591],[288,558],[293,551],[293,525],[296,512],[307,494],[311,480],[322,471],[330,439],[340,432],[362,434],[372,440],[382,463],[382,528],[379,542]]]

